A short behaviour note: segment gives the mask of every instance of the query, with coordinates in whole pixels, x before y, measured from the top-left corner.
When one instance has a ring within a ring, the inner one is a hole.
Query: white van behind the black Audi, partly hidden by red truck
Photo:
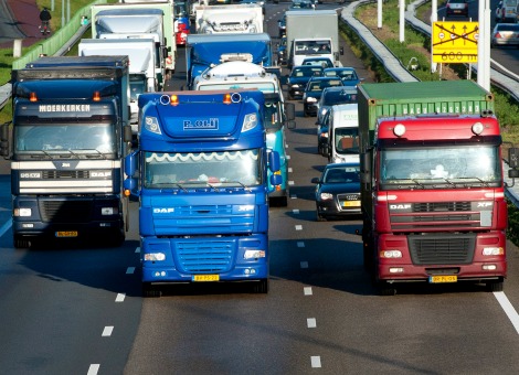
[[[328,162],[359,162],[359,113],[357,103],[331,106],[328,121]]]

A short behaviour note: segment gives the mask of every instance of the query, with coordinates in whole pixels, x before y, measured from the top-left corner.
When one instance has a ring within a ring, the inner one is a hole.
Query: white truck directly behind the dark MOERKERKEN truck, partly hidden
[[[156,56],[152,39],[82,39],[78,45],[80,56],[129,57],[129,86],[131,131],[137,133],[139,114],[138,97],[142,93],[161,90],[163,72],[160,60]]]

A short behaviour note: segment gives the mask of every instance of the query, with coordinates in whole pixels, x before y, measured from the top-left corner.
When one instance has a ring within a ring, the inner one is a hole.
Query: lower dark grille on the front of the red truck
[[[409,235],[407,243],[415,265],[463,265],[474,258],[476,235]]]

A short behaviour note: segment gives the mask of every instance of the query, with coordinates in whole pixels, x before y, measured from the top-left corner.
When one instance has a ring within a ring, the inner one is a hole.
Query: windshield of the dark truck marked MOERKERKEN
[[[15,152],[84,154],[114,153],[116,142],[110,124],[38,124],[14,127]]]

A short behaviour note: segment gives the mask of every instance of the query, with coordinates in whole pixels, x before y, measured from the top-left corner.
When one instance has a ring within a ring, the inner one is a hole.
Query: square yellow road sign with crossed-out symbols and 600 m
[[[433,22],[434,63],[477,63],[478,22]]]

